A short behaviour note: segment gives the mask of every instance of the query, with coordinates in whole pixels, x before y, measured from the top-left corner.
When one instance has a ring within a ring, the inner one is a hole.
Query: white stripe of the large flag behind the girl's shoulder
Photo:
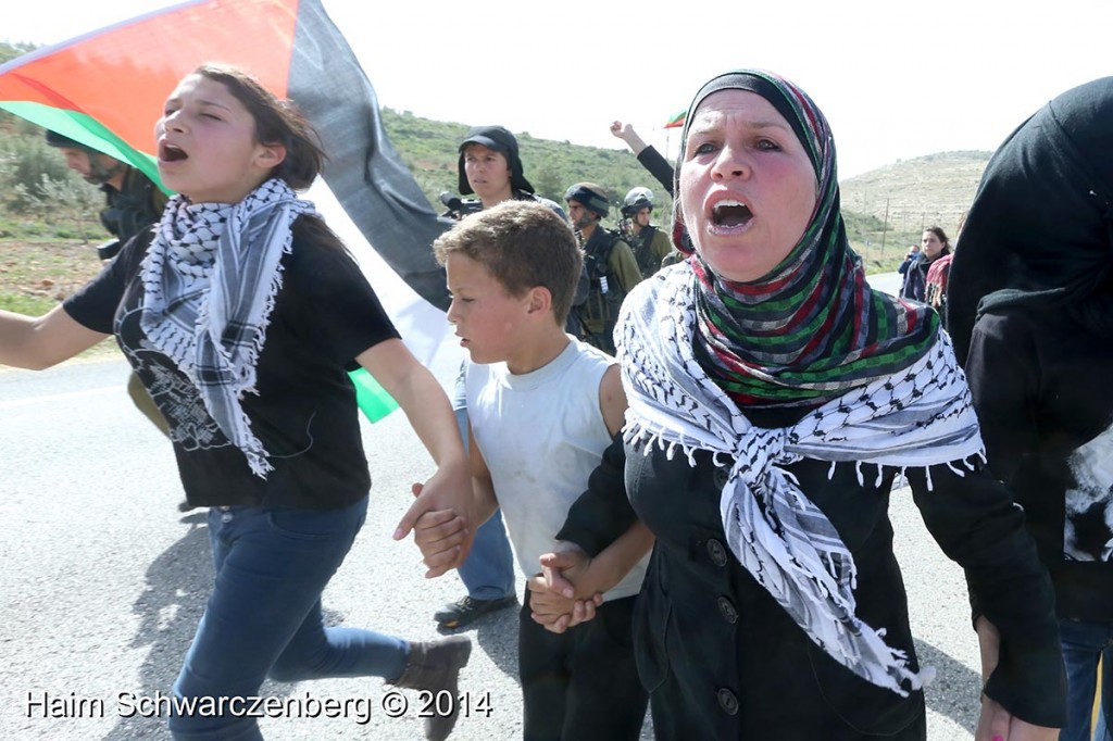
[[[444,312],[418,296],[386,264],[380,251],[367,241],[341,207],[328,185],[322,178],[317,178],[305,197],[316,205],[317,210],[325,217],[325,223],[339,236],[359,263],[359,269],[367,276],[410,352],[424,365],[431,365],[442,349],[449,352],[446,343],[452,336],[452,326],[445,318]],[[432,245],[429,249],[432,251]]]

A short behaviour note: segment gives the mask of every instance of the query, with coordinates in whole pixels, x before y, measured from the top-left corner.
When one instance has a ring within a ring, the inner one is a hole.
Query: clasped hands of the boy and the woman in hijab
[[[534,622],[553,633],[593,620],[603,595],[591,576],[591,559],[574,543],[560,542],[541,556],[542,573],[528,583]]]

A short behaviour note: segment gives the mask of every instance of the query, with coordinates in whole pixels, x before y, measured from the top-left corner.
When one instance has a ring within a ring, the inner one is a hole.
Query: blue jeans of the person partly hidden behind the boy
[[[460,425],[460,436],[467,452],[467,408],[464,395],[464,368],[452,398],[452,408]],[[495,510],[491,518],[475,531],[475,540],[464,563],[456,570],[460,580],[467,587],[467,594],[475,600],[499,600],[514,594],[514,554],[510,550],[506,528],[502,524],[502,512]]]

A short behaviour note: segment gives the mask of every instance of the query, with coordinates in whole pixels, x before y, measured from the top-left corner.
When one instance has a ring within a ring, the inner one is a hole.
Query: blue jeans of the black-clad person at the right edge
[[[1102,660],[1101,715],[1094,741],[1111,741],[1105,723],[1113,718],[1113,623],[1060,620],[1058,630],[1066,664],[1066,728],[1060,741],[1091,741],[1090,719],[1097,685],[1097,660]],[[1103,722],[1104,721],[1104,722]]]

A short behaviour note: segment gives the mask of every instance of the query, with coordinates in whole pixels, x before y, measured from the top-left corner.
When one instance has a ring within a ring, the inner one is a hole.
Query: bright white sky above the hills
[[[0,39],[53,43],[171,0],[9,0]],[[835,132],[841,178],[897,159],[992,150],[1055,95],[1113,75],[1113,2],[1058,0],[325,0],[380,101],[418,116],[617,147],[711,76],[764,67]],[[590,172],[584,172],[584,178]]]

